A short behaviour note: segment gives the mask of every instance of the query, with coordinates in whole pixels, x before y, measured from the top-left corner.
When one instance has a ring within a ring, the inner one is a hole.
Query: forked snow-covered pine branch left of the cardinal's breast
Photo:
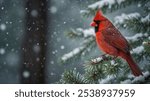
[[[73,33],[70,34],[73,35],[69,35],[69,36],[74,36],[74,38],[75,37],[83,38],[84,40],[81,42],[80,47],[75,48],[69,53],[64,54],[61,57],[62,62],[66,62],[74,58],[75,56],[85,55],[87,52],[91,51],[91,49],[96,45],[94,29],[90,28],[84,30],[81,28],[77,28],[76,30],[72,30],[72,32]]]

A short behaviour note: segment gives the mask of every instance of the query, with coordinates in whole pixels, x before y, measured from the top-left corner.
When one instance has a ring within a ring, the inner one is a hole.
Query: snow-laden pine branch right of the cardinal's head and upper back
[[[139,13],[122,14],[114,18],[117,27],[134,30],[135,32],[148,33],[150,31],[150,17],[142,17]]]

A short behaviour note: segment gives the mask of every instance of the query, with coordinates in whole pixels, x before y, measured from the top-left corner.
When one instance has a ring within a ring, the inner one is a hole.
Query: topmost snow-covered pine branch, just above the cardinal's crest
[[[88,6],[86,10],[81,10],[81,14],[89,16],[94,14],[98,9],[101,9],[103,13],[106,11],[113,11],[125,6],[129,6],[132,3],[142,3],[143,0],[100,0]]]

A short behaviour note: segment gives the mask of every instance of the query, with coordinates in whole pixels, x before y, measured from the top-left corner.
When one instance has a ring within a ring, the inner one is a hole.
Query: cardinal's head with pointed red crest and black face
[[[93,22],[91,23],[91,26],[95,27],[95,33],[98,32],[99,25],[100,25],[101,21],[104,21],[104,20],[106,20],[106,17],[103,15],[101,10],[98,10],[93,19]]]

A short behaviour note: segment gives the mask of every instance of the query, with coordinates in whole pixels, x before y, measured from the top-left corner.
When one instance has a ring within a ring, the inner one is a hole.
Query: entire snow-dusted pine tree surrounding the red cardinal
[[[95,1],[95,0],[94,0]],[[85,17],[94,16],[98,9],[104,14],[113,13],[121,8],[136,5],[137,12],[116,15],[113,24],[120,30],[126,29],[132,33],[126,37],[132,46],[131,54],[140,65],[143,76],[134,77],[128,64],[120,59],[113,59],[110,55],[87,59],[83,66],[84,73],[79,73],[76,68],[66,70],[59,83],[97,84],[97,83],[150,83],[150,1],[149,0],[99,0],[89,5],[81,14]],[[67,34],[69,38],[84,39],[82,45],[61,57],[63,63],[79,59],[97,47],[95,33],[89,29],[71,29]],[[93,56],[94,57],[94,56]]]

